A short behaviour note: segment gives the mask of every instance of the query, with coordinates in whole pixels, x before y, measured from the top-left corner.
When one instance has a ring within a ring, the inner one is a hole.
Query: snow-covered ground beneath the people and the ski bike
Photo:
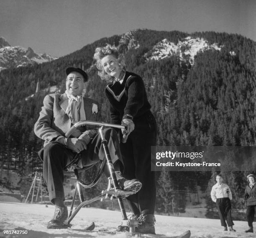
[[[82,208],[72,220],[71,229],[46,229],[46,224],[54,214],[54,206],[0,202],[0,238],[125,238],[125,234],[98,233],[97,230],[114,231],[122,219],[118,211],[97,208]],[[87,225],[95,222],[95,231],[85,231]],[[247,223],[235,221],[237,232],[224,232],[220,220],[207,218],[184,218],[156,215],[156,233],[164,237],[175,237],[186,230],[192,238],[249,238],[255,233],[244,233]],[[4,235],[4,230],[27,230],[27,235]]]

